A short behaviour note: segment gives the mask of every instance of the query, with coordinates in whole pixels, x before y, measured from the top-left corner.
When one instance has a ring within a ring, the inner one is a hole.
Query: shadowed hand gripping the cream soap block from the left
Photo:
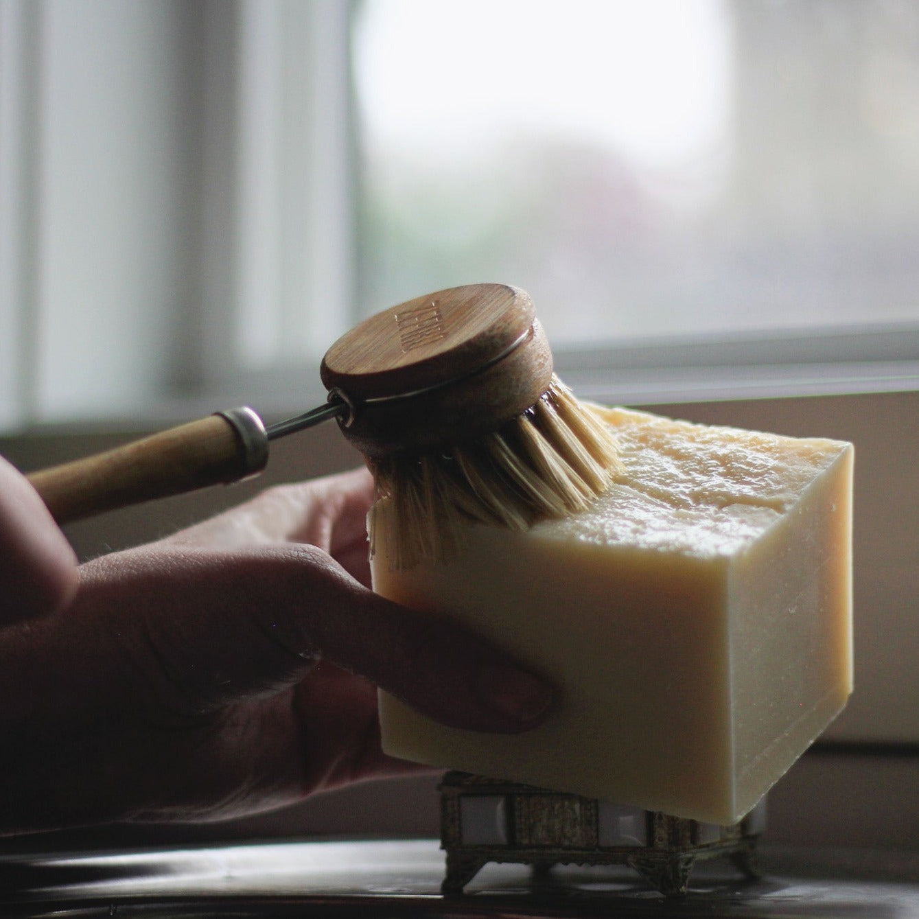
[[[269,490],[0,631],[0,830],[222,818],[414,768],[381,753],[372,684],[473,730],[541,720],[535,676],[369,591],[370,500],[366,471]]]

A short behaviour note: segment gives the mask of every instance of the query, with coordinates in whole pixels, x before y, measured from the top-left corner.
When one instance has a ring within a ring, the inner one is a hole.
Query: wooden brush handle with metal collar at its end
[[[232,409],[123,447],[32,472],[28,481],[59,524],[237,482],[265,468],[265,427],[252,409]]]

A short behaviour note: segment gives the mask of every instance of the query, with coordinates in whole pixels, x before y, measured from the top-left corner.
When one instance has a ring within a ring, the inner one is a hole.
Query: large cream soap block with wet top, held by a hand
[[[598,411],[625,472],[582,514],[470,524],[447,562],[396,571],[380,508],[375,589],[478,630],[560,690],[543,725],[510,736],[382,693],[383,748],[735,823],[852,690],[853,448]]]

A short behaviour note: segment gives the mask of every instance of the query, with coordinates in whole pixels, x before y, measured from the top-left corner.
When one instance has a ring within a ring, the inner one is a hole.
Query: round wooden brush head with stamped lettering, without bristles
[[[383,457],[496,430],[549,388],[552,356],[526,291],[470,284],[371,316],[329,348],[320,372],[355,406],[345,436]]]

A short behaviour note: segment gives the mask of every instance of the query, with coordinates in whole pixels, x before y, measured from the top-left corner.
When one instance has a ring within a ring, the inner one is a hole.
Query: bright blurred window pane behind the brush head
[[[363,305],[482,278],[550,340],[919,320],[909,3],[365,0]]]

